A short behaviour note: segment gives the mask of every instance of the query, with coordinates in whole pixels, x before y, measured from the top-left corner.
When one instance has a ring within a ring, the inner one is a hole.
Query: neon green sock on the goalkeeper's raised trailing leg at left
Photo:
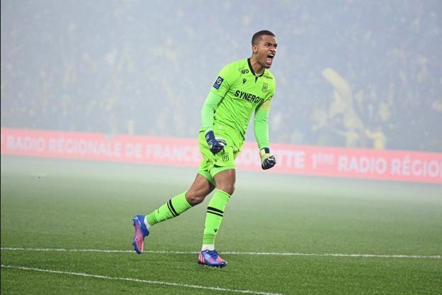
[[[146,220],[150,226],[153,226],[155,223],[179,216],[188,208],[191,208],[191,204],[188,204],[188,201],[186,200],[186,191],[184,191],[147,215]]]

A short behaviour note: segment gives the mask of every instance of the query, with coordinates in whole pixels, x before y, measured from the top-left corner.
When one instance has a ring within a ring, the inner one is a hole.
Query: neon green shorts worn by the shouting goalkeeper
[[[198,136],[198,147],[200,147],[200,152],[203,156],[203,160],[198,168],[198,173],[203,175],[203,177],[208,179],[213,185],[215,185],[215,180],[213,179],[215,174],[227,169],[235,169],[234,163],[239,152],[237,147],[229,145],[232,139],[229,138],[228,135],[219,134],[217,138],[223,138],[227,145],[216,155],[213,155],[205,140],[204,131],[200,131]]]

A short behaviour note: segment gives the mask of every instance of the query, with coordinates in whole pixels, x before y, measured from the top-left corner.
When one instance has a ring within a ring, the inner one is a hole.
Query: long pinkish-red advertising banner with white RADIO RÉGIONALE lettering
[[[269,172],[442,184],[442,153],[272,144]],[[184,138],[1,128],[1,154],[198,167],[198,142]],[[237,168],[261,169],[256,143]]]

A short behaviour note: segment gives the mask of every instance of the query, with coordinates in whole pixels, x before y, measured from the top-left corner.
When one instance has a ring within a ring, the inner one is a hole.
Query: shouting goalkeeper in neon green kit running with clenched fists
[[[215,238],[224,217],[227,202],[234,192],[235,159],[242,149],[244,135],[254,114],[254,135],[259,147],[262,169],[276,164],[268,140],[268,112],[275,92],[275,78],[268,70],[276,55],[276,37],[268,30],[255,33],[251,39],[251,57],[223,67],[201,109],[202,126],[198,143],[203,160],[188,191],[171,198],[147,216],[133,218],[137,253],[143,251],[151,226],[196,206],[213,190],[208,204],[203,247],[198,263],[225,267],[215,250]]]

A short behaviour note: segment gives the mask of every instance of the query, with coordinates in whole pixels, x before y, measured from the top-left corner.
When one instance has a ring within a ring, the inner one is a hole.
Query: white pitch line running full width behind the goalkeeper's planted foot
[[[99,250],[99,249],[62,249],[62,248],[21,248],[1,247],[0,250],[9,251],[55,251],[55,252],[101,252],[101,253],[134,253],[133,250]],[[154,251],[145,253],[155,254],[198,254],[192,251]],[[378,258],[416,258],[416,259],[442,259],[442,255],[400,255],[400,254],[344,254],[344,253],[299,253],[299,252],[222,252],[223,255],[260,255],[260,256],[316,256],[316,257],[378,257]]]

